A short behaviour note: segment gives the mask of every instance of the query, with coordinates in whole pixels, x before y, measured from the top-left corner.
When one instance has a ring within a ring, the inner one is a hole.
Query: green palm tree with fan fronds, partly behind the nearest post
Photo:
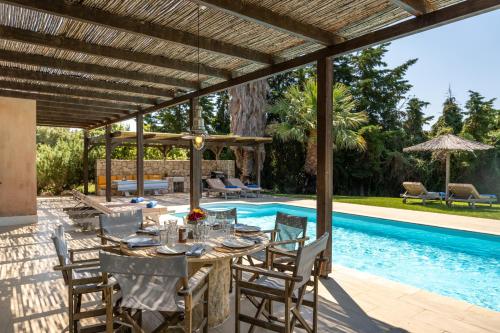
[[[305,171],[315,176],[317,165],[317,84],[308,79],[303,87],[291,86],[284,97],[269,108],[278,122],[269,124],[267,130],[282,141],[296,140],[307,145]],[[357,132],[368,122],[365,112],[354,112],[356,102],[349,88],[341,83],[333,87],[333,145],[334,149],[364,151],[366,142]]]

